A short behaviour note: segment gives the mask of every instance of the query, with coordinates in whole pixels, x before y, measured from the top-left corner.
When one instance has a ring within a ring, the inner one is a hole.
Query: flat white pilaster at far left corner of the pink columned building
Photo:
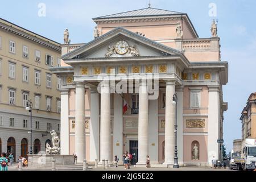
[[[60,93],[60,154],[69,155],[69,90]]]

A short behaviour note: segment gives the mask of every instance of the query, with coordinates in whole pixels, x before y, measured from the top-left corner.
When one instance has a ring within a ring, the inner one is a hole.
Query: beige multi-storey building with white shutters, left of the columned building
[[[60,44],[0,18],[0,152],[15,160],[30,148],[32,101],[33,154],[60,132],[60,78],[48,71],[60,65]]]

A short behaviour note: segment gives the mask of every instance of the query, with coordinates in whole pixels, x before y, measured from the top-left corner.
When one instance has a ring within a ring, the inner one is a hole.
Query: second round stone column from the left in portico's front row
[[[113,160],[111,156],[111,128],[110,128],[110,87],[109,81],[102,81],[101,84],[101,129],[100,129],[100,156],[101,161]]]

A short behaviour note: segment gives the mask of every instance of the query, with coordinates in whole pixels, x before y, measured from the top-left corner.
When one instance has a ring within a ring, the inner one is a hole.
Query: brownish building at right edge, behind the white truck
[[[242,110],[242,140],[256,138],[256,92],[251,93]]]

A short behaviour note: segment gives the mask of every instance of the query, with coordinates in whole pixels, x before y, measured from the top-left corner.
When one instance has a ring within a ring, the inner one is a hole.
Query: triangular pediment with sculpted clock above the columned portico
[[[154,42],[144,36],[128,31],[125,28],[115,28],[97,39],[67,53],[63,60],[92,59],[112,57],[144,57],[144,56],[182,55],[176,49]]]

